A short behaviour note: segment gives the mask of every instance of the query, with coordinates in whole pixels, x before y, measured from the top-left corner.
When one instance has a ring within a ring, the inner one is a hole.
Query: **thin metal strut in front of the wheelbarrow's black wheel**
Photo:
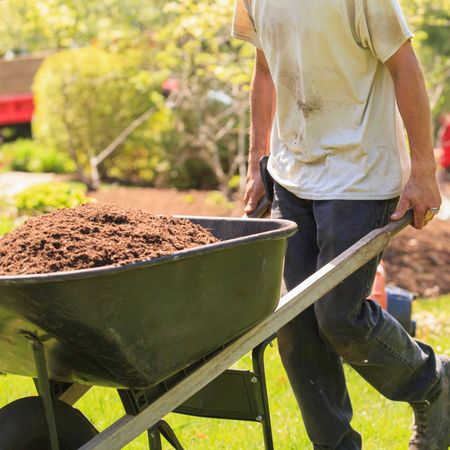
[[[48,379],[47,362],[45,359],[45,351],[42,342],[38,336],[33,333],[24,333],[25,337],[30,341],[33,349],[34,361],[37,371],[37,384],[39,396],[44,403],[45,416],[47,418],[48,433],[50,438],[50,449],[59,450],[58,430],[56,428],[55,409],[53,407],[53,396]]]

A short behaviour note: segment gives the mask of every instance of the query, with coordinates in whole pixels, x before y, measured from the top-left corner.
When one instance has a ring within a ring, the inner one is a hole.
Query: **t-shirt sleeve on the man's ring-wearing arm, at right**
[[[413,37],[398,0],[359,0],[356,29],[361,45],[382,63]]]

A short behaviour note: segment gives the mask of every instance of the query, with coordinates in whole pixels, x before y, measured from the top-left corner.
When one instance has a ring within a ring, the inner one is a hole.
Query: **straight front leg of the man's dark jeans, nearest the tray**
[[[276,185],[272,216],[299,226],[286,254],[284,278],[290,290],[316,270],[319,248],[313,202]],[[320,336],[313,306],[279,330],[278,347],[314,448],[360,449],[361,438],[350,426],[353,412],[342,362]]]

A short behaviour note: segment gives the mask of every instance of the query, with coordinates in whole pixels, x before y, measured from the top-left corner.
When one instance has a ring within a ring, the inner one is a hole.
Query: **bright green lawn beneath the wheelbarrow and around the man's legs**
[[[433,345],[438,352],[450,355],[450,296],[415,303],[418,337]],[[250,368],[250,358],[243,358],[238,366]],[[278,450],[310,449],[300,414],[281,367],[276,348],[266,351],[266,369],[272,413],[275,448]],[[407,448],[411,412],[405,404],[384,399],[351,368],[346,375],[355,418],[353,426],[363,435],[365,450],[401,450]],[[34,395],[29,379],[0,376],[0,406],[14,399]],[[94,388],[76,405],[95,426],[103,430],[123,415],[114,390]],[[263,448],[259,424],[199,419],[171,414],[168,422],[188,449],[257,450]],[[146,449],[141,436],[127,450]],[[164,449],[170,448],[164,446]]]

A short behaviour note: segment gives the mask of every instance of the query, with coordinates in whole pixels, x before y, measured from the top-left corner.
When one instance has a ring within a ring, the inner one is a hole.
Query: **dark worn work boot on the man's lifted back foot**
[[[442,391],[433,402],[411,403],[414,426],[409,450],[447,450],[450,447],[450,358],[442,362]]]

